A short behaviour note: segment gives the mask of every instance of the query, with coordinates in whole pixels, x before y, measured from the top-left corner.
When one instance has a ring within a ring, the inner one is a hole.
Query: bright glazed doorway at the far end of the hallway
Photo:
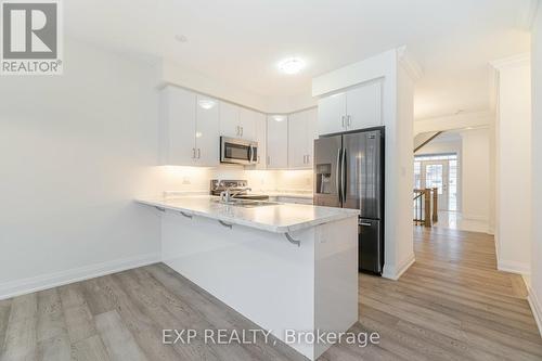
[[[457,154],[414,157],[414,188],[438,189],[438,209],[457,210]]]

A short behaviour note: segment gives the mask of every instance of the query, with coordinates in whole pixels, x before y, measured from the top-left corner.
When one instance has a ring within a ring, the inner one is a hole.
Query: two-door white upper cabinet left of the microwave
[[[172,86],[162,90],[160,164],[218,165],[218,120],[216,100]]]

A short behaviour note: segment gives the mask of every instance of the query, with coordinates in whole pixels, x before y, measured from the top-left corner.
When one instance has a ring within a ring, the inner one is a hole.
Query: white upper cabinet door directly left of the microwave
[[[215,167],[219,165],[219,105],[218,101],[197,95],[196,104],[196,159],[198,166]]]

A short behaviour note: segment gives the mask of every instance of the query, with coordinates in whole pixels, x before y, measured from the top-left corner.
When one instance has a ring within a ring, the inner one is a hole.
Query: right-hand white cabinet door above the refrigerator
[[[346,93],[348,130],[383,125],[382,81],[373,81],[348,90]]]

